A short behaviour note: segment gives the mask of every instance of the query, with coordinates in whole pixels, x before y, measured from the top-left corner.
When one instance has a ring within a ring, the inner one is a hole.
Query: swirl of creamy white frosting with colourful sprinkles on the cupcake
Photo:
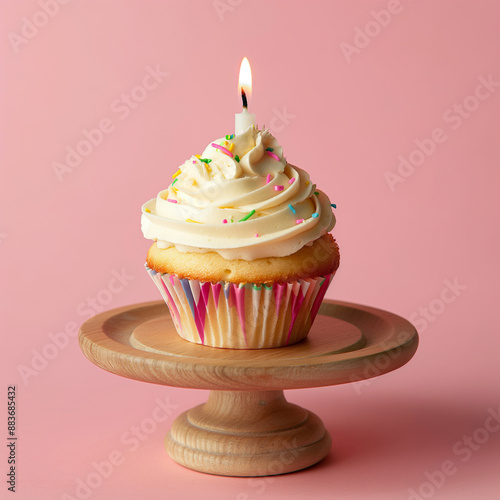
[[[328,197],[286,162],[267,130],[218,139],[174,176],[142,206],[143,234],[160,248],[230,260],[284,257],[335,225]]]

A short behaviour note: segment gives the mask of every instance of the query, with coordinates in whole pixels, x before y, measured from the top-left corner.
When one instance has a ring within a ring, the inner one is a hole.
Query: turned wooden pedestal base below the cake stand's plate
[[[221,476],[294,472],[322,460],[330,444],[319,417],[283,391],[211,391],[205,404],[177,417],[165,439],[177,463]]]

